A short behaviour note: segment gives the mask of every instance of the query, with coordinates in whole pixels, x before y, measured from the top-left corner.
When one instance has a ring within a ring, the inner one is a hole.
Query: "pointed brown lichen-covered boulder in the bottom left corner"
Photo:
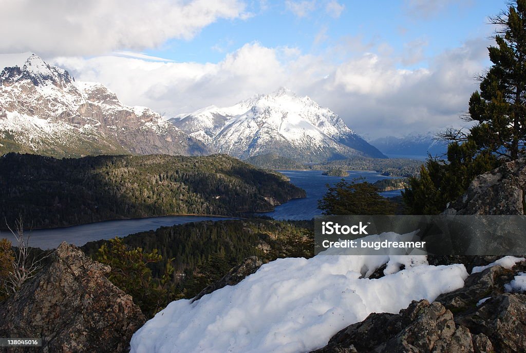
[[[60,244],[53,261],[0,304],[0,337],[41,337],[43,352],[126,352],[146,321],[110,268]]]

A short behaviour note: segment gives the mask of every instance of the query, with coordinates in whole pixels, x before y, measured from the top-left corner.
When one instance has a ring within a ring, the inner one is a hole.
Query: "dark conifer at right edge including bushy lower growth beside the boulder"
[[[440,213],[466,192],[479,174],[524,155],[526,144],[526,0],[490,18],[497,26],[488,47],[492,66],[471,95],[467,133],[449,130],[447,162],[428,159],[419,178],[410,178],[403,200],[413,214]]]

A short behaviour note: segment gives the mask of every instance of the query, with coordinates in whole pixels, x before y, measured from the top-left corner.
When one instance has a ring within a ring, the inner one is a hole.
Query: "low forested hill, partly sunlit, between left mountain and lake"
[[[269,211],[305,191],[227,155],[0,157],[0,215],[51,228],[164,214]],[[5,228],[4,219],[0,228]]]

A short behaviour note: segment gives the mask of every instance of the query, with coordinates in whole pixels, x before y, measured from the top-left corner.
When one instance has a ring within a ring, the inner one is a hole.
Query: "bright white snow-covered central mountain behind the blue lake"
[[[209,106],[170,120],[211,149],[239,158],[276,153],[316,162],[363,155],[385,158],[327,108],[281,88],[234,106]]]

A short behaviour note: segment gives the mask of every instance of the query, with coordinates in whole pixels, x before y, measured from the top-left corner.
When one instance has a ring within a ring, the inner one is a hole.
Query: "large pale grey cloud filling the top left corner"
[[[219,18],[244,18],[240,0],[3,1],[0,53],[95,55],[190,39]]]

